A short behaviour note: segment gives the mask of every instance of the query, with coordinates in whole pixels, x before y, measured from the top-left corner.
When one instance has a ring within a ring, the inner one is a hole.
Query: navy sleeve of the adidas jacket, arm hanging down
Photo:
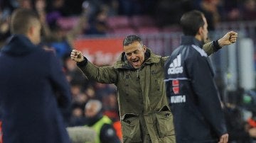
[[[198,110],[220,137],[227,132],[227,129],[210,63],[207,57],[201,55],[193,58],[187,62],[190,63],[187,70],[191,76],[191,86],[195,92]]]

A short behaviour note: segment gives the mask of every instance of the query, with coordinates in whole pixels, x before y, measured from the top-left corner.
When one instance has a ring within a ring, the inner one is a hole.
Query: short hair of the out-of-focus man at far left
[[[11,33],[26,34],[35,21],[39,21],[36,12],[26,8],[18,8],[11,15]]]

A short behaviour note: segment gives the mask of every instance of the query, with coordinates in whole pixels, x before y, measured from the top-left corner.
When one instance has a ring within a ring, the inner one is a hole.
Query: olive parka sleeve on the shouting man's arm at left
[[[114,67],[97,67],[89,61],[87,61],[86,64],[78,65],[78,67],[88,79],[95,80],[102,84],[116,84],[117,82],[117,69],[114,69]]]

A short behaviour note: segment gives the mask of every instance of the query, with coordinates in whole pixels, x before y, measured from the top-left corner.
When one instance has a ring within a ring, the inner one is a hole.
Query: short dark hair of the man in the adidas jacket
[[[180,21],[184,35],[196,35],[198,29],[205,24],[203,16],[201,11],[196,10],[184,13]]]

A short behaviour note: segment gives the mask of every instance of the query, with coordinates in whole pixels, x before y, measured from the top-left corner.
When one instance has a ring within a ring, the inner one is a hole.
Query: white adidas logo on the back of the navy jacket
[[[181,74],[183,72],[183,67],[181,67],[181,54],[179,54],[173,62],[169,65],[167,71],[168,74]]]

